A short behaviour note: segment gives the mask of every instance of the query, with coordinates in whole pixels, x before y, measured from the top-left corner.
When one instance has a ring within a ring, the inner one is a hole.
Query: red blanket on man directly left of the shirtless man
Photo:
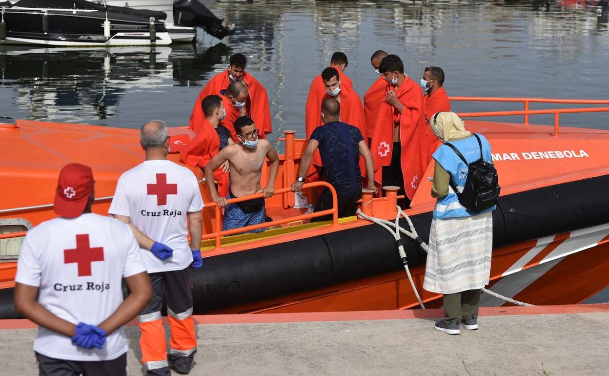
[[[205,168],[211,158],[220,152],[220,137],[207,119],[203,118],[199,124],[199,133],[180,151],[180,161],[185,165]],[[228,174],[222,171],[221,166],[214,171],[214,180],[218,183],[220,197],[226,197],[230,188],[230,179]]]

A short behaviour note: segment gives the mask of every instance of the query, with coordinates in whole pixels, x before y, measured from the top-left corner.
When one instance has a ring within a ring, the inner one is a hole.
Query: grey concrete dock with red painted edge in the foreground
[[[481,308],[480,329],[456,336],[434,330],[441,316],[441,310],[195,316],[199,350],[191,375],[609,374],[609,304]],[[0,375],[37,374],[36,331],[27,320],[0,321]],[[127,334],[128,374],[143,375],[135,322]]]

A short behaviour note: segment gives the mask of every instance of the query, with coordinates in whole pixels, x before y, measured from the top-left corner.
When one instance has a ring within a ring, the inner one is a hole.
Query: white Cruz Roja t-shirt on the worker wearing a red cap
[[[146,272],[131,229],[92,213],[55,218],[27,232],[15,282],[36,286],[38,302],[72,324],[99,325],[121,305],[123,277]],[[102,349],[83,349],[71,338],[40,327],[34,350],[62,360],[113,360],[127,352],[121,327]]]

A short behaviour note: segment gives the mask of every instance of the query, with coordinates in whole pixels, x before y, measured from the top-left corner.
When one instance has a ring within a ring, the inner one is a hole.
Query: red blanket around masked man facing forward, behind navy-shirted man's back
[[[362,101],[359,99],[359,95],[353,91],[353,87],[351,85],[345,85],[343,78],[347,77],[343,74],[340,69],[337,69],[339,72],[340,79],[340,120],[346,124],[350,124],[351,126],[357,127],[357,129],[362,132],[362,136],[364,140],[366,140],[366,122],[364,119],[364,107],[362,106]],[[321,86],[320,86],[321,85]],[[317,76],[313,79],[311,83],[311,89],[309,90],[309,96],[306,101],[306,110],[305,110],[305,129],[306,129],[306,138],[309,140],[311,137],[311,133],[315,128],[323,125],[322,122],[322,102],[326,98],[332,98],[328,93],[326,93],[326,87],[323,85],[322,76]],[[307,173],[309,180],[317,180],[315,175],[315,166],[322,166],[322,157],[319,154],[319,151],[315,151],[313,155],[313,161],[311,163],[311,167]],[[362,174],[365,174],[365,164],[364,158],[360,158],[360,168]]]

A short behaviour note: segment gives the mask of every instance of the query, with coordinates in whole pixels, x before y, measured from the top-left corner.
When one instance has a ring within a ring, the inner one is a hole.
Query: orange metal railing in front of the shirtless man
[[[338,198],[336,196],[336,190],[334,190],[334,187],[330,183],[326,183],[326,182],[306,183],[305,185],[303,185],[303,189],[314,188],[316,186],[325,186],[332,193],[332,208],[331,209],[317,211],[315,213],[301,214],[301,215],[297,215],[297,216],[293,216],[293,217],[289,217],[289,218],[277,219],[276,221],[264,222],[261,224],[239,227],[238,229],[224,230],[224,231],[216,230],[216,232],[206,233],[205,235],[203,235],[203,240],[215,238],[216,247],[219,248],[222,246],[222,241],[221,241],[222,236],[235,235],[237,233],[264,229],[265,227],[286,224],[289,222],[303,221],[304,219],[311,219],[311,218],[321,217],[321,216],[325,216],[325,215],[332,215],[332,225],[333,226],[338,225],[339,213],[338,213]],[[274,194],[283,194],[283,193],[288,193],[291,191],[292,191],[291,187],[286,187],[286,188],[281,188],[279,190],[275,190]],[[259,197],[262,197],[262,193],[249,194],[248,196],[238,197],[235,199],[228,199],[227,204],[234,204],[236,202],[258,199]],[[205,207],[203,207],[203,210],[211,209],[211,208],[214,208],[214,210],[216,210],[216,229],[222,229],[222,223],[220,222],[220,207],[218,207],[216,202],[209,202],[209,203],[205,204]]]

